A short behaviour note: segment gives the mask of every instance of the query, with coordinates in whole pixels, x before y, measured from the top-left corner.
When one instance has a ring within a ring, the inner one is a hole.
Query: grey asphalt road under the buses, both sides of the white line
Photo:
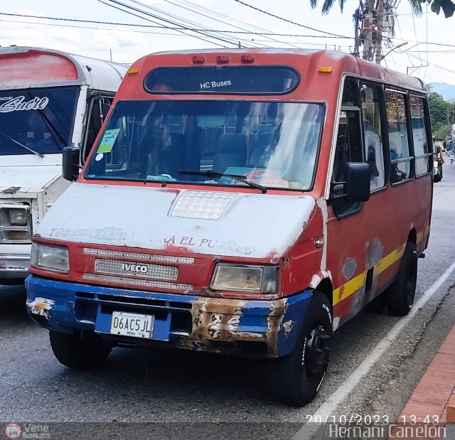
[[[419,260],[416,301],[455,261],[454,243],[455,163],[446,163],[443,181],[434,185],[432,231],[427,257]],[[346,395],[334,418],[379,414],[396,419],[454,324],[454,284],[452,273]],[[117,348],[100,370],[68,370],[53,357],[47,332],[28,318],[24,301],[23,287],[0,286],[0,422],[119,422],[83,425],[90,438],[103,439],[129,437],[122,429],[129,434],[142,429],[138,438],[144,439],[290,439],[314,420],[333,392],[343,389],[400,320],[360,313],[339,329],[331,340],[331,363],[319,395],[304,408],[291,408],[270,397],[258,360]],[[62,428],[66,434],[58,438],[82,439],[77,426]],[[313,438],[326,436],[316,433]]]

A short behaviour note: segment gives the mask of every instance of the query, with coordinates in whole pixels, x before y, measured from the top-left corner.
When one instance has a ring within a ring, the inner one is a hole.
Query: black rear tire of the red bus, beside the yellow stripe
[[[387,307],[390,314],[405,316],[410,312],[414,303],[416,284],[417,252],[414,243],[407,242],[398,277],[387,289]]]

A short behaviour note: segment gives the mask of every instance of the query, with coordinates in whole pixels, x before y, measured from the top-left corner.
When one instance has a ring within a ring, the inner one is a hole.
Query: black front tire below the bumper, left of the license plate
[[[95,333],[72,335],[50,331],[49,340],[55,358],[73,370],[100,367],[112,350],[112,345]]]

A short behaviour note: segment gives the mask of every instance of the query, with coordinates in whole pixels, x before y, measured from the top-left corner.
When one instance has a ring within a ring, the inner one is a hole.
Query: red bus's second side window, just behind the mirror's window
[[[370,165],[370,191],[385,186],[384,150],[381,136],[382,87],[363,84],[361,87],[365,158]]]

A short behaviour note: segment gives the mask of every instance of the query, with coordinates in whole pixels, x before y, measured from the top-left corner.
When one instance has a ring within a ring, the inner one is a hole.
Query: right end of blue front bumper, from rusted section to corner
[[[304,320],[311,292],[274,301],[199,298],[193,331],[180,347],[276,358],[288,354]]]

